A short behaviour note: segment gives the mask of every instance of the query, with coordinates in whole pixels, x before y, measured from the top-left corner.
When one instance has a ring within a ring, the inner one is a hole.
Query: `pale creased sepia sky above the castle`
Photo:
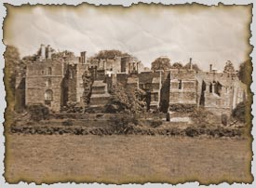
[[[236,69],[249,59],[249,6],[233,7],[8,7],[4,43],[33,55],[41,44],[75,55],[119,49],[150,67],[160,56],[171,63],[192,58],[203,70]]]

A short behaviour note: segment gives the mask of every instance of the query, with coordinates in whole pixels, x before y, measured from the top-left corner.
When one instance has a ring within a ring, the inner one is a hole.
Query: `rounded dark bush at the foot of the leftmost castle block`
[[[49,118],[49,109],[43,104],[30,105],[28,111],[33,121],[38,122]]]

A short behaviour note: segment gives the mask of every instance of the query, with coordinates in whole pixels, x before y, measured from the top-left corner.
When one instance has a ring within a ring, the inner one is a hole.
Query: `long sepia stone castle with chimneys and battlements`
[[[36,60],[27,64],[25,105],[42,103],[53,112],[60,112],[69,102],[84,105],[83,95],[89,86],[85,86],[83,74],[87,71],[93,76],[88,106],[95,108],[106,104],[110,86],[116,82],[128,89],[143,89],[149,111],[203,106],[215,114],[230,115],[247,98],[247,86],[236,74],[218,73],[211,65],[208,72],[195,71],[192,60],[188,69],[148,71],[131,57],[87,59],[86,51],[80,57],[68,52],[58,57],[50,46],[41,45]]]

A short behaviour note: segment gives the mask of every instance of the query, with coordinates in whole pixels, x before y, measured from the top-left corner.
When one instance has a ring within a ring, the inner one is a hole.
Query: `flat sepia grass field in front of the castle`
[[[7,136],[8,182],[251,182],[249,140],[141,135]]]

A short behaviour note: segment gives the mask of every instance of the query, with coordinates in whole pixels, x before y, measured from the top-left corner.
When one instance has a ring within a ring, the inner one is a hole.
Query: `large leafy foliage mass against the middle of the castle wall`
[[[140,88],[126,89],[122,84],[116,83],[111,87],[110,93],[110,100],[106,104],[107,113],[138,113],[146,109],[145,92]]]

